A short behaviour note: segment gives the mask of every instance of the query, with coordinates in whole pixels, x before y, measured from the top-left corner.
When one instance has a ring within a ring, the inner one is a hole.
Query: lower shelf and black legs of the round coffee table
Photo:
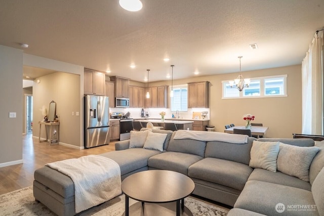
[[[161,215],[161,216],[175,216],[176,215],[176,203],[144,203],[144,212],[142,208],[142,203],[137,202],[129,207],[129,215],[145,216],[145,215]],[[181,209],[180,215],[182,216],[193,216],[189,208],[184,206]],[[125,216],[125,212],[123,214]]]

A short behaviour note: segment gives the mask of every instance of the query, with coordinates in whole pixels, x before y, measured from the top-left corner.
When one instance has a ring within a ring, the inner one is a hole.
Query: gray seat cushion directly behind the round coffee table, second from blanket
[[[188,167],[203,159],[198,155],[182,152],[164,152],[148,159],[148,166],[156,169],[165,169],[180,172],[188,176]]]

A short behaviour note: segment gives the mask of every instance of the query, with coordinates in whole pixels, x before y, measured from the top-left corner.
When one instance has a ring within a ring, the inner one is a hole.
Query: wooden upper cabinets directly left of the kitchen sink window
[[[168,108],[168,85],[150,87],[150,98],[146,99],[146,108]],[[146,96],[146,93],[145,93]]]

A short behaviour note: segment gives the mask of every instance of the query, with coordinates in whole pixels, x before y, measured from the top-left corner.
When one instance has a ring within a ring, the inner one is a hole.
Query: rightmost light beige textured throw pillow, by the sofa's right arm
[[[280,143],[278,170],[284,174],[309,182],[309,166],[319,148],[299,147]]]

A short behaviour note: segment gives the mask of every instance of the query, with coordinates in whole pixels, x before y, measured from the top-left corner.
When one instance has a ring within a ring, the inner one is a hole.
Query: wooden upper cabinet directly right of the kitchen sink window
[[[208,99],[208,81],[188,83],[188,108],[208,108]]]

